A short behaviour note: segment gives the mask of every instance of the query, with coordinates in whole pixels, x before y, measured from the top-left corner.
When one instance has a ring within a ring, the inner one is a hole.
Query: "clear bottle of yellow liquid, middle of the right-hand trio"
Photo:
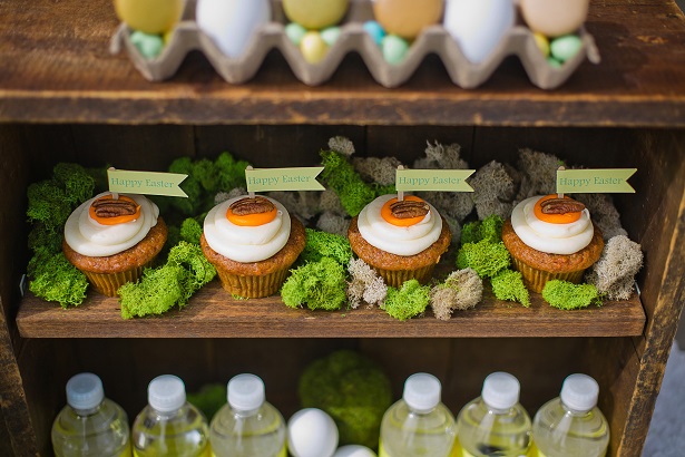
[[[457,418],[457,439],[464,457],[526,456],[530,448],[530,416],[519,403],[518,379],[506,372],[489,375],[481,396]]]

